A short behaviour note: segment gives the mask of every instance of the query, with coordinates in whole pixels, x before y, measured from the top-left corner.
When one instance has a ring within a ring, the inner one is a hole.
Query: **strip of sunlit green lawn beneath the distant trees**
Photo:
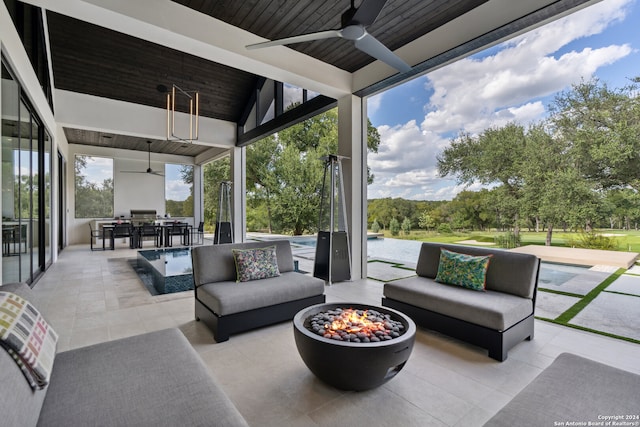
[[[382,231],[382,230],[381,230]],[[640,231],[638,230],[599,230],[599,233],[612,236],[618,244],[619,251],[640,252]],[[468,232],[468,233],[453,233],[453,234],[439,234],[435,231],[413,230],[411,234],[404,235],[400,233],[398,236],[392,236],[388,230],[384,230],[384,237],[391,237],[396,239],[408,239],[419,241],[430,241],[440,243],[455,243],[461,240],[477,240],[479,242],[493,242],[494,237],[503,233],[497,233],[496,231],[486,232]],[[521,245],[544,245],[547,238],[546,232],[530,232],[521,231],[520,240]],[[554,232],[551,240],[553,246],[565,246],[570,247],[571,241],[579,240],[579,233],[563,233],[562,231]]]

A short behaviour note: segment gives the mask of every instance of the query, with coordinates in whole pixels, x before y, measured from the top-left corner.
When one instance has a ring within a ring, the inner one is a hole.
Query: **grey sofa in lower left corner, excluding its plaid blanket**
[[[27,285],[0,291],[24,298],[46,320]],[[57,353],[42,389],[0,348],[0,395],[5,426],[248,425],[176,328]]]

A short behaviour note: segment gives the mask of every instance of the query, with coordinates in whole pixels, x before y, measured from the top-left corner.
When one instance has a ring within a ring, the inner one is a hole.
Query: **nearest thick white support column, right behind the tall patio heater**
[[[367,112],[363,99],[338,99],[338,155],[342,161],[351,246],[351,278],[367,277]]]

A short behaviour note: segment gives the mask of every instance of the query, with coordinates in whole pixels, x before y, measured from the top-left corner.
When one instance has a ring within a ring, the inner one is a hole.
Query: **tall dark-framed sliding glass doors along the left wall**
[[[51,138],[2,64],[2,282],[33,282],[52,259]]]

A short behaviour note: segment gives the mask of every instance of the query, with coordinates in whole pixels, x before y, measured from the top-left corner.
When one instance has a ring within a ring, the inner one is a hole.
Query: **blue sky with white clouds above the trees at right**
[[[451,200],[465,187],[436,166],[451,138],[541,120],[554,96],[581,80],[628,84],[640,76],[639,24],[640,0],[604,0],[369,98],[381,143],[368,156],[368,198]]]

